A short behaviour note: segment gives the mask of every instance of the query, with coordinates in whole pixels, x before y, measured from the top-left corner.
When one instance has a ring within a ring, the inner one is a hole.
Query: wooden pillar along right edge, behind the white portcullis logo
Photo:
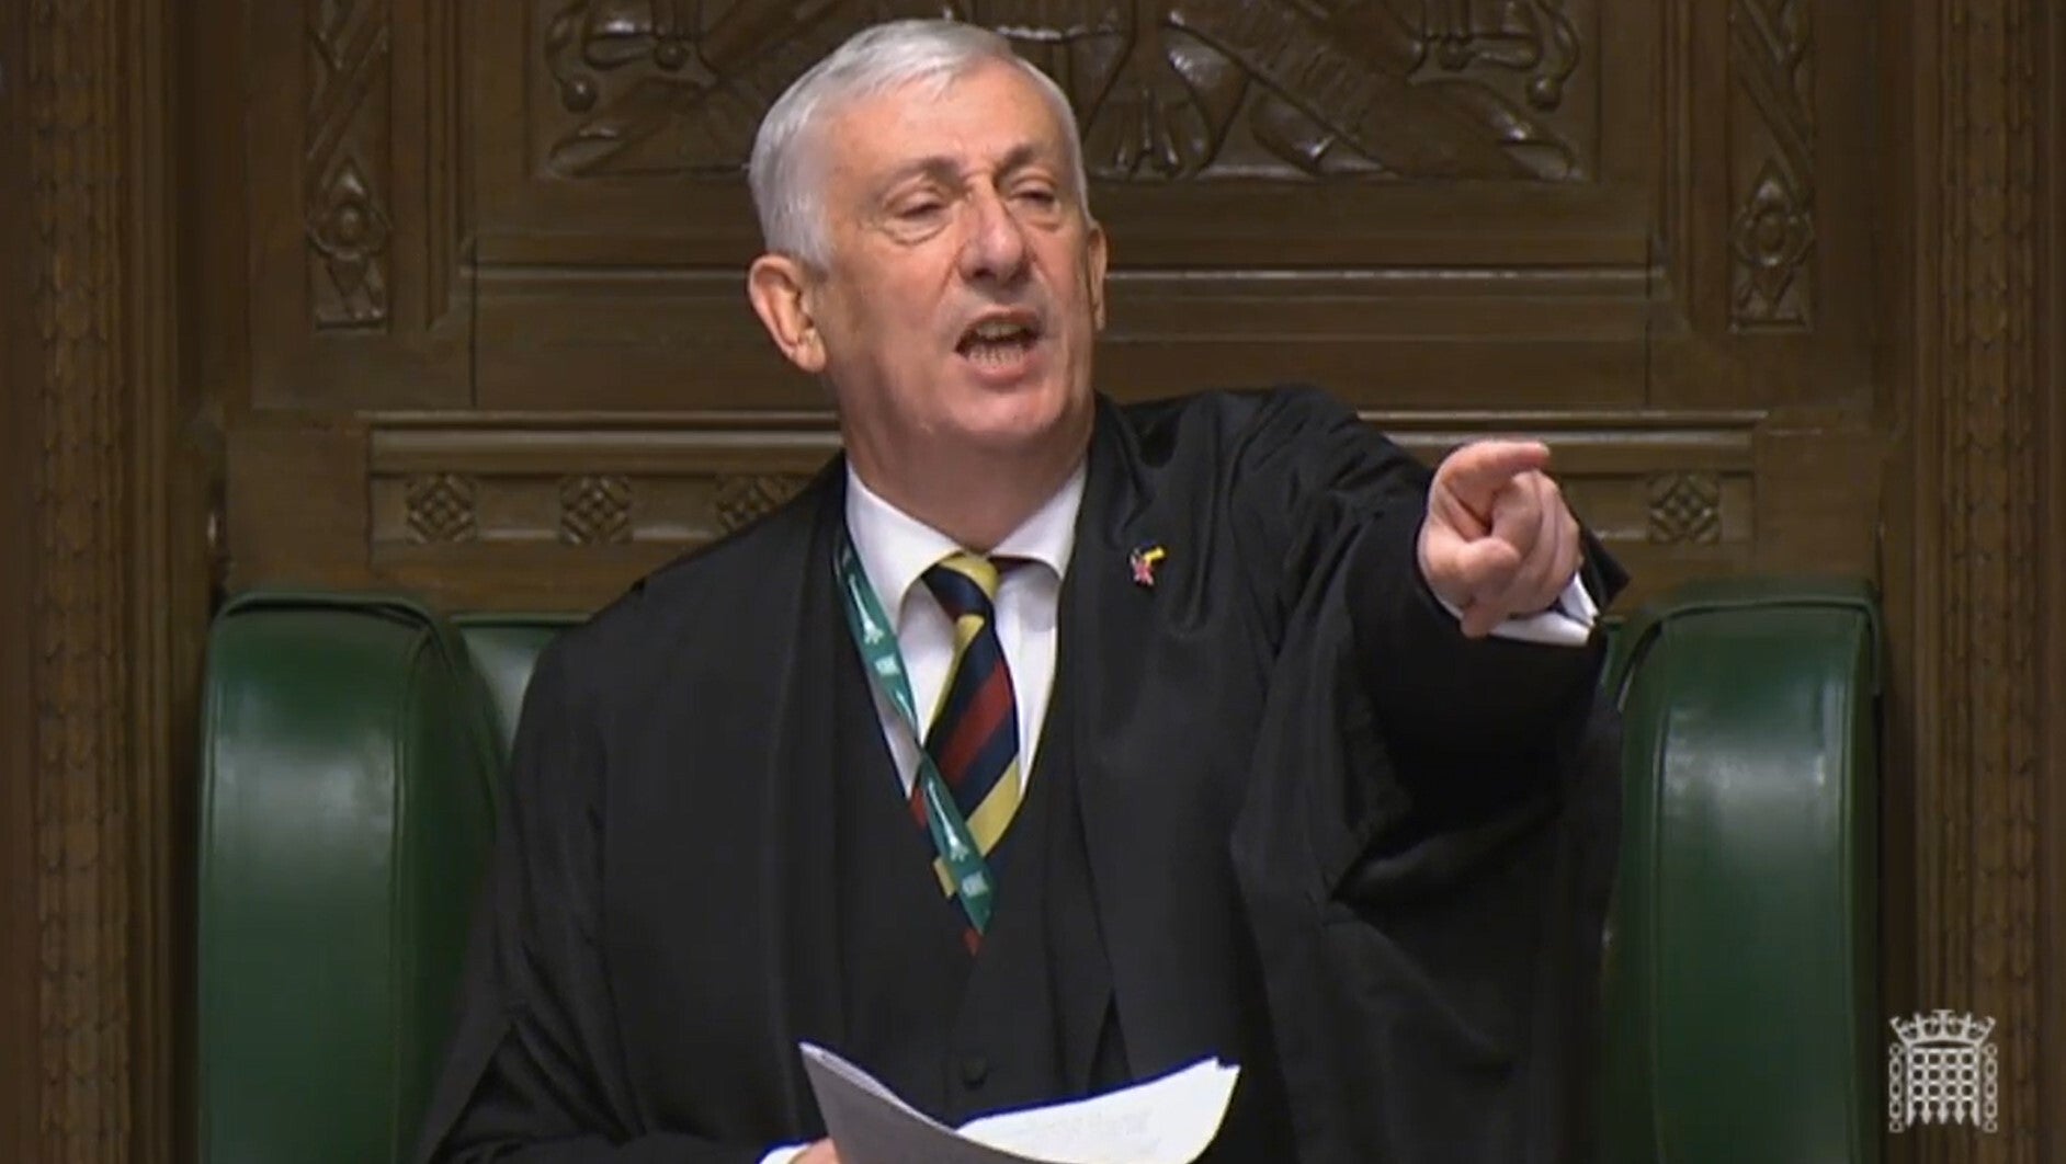
[[[2060,17],[2047,0],[1886,12],[1899,167],[1886,272],[1897,421],[1888,1009],[1996,1020],[2000,1129],[1913,1129],[1919,1160],[2056,1160],[2062,607]],[[1899,863],[1907,859],[1911,871]]]

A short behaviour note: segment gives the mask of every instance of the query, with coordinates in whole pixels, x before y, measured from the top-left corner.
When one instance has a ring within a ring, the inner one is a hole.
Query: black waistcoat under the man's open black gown
[[[849,656],[851,658],[851,656]],[[981,949],[940,892],[932,840],[911,819],[859,660],[837,683],[839,958],[843,1055],[948,1125],[1128,1079],[1097,931],[1068,731],[1045,731],[1037,770],[990,854],[996,910]],[[1047,722],[1068,722],[1056,683]]]

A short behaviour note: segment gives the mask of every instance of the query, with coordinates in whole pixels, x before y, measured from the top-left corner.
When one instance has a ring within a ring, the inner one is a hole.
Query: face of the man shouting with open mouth
[[[862,468],[952,450],[1064,454],[1091,427],[1105,237],[1060,124],[1004,62],[820,126],[831,268],[804,279]]]

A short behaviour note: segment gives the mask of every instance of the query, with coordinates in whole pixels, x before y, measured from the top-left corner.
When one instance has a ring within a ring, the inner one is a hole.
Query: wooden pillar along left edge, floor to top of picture
[[[176,101],[165,0],[8,4],[8,320],[27,343],[6,382],[8,539],[0,580],[27,667],[8,691],[6,1040],[35,1077],[14,1160],[171,1160],[178,1125],[176,923],[190,834],[180,755],[205,621],[205,551],[180,487],[174,279]],[[14,169],[14,167],[8,167]],[[27,308],[27,310],[19,310]],[[176,545],[178,543],[178,545]],[[194,568],[200,584],[194,584]],[[202,603],[196,613],[196,599]],[[25,691],[21,691],[25,687]],[[17,700],[17,691],[21,700]],[[33,722],[21,724],[23,708]],[[17,731],[17,729],[27,731]],[[190,751],[190,749],[188,749]],[[27,842],[21,846],[21,842]],[[27,871],[23,881],[12,873]],[[27,987],[27,989],[23,989]],[[31,1009],[27,1017],[23,1009]],[[21,1024],[33,1024],[23,1032]]]

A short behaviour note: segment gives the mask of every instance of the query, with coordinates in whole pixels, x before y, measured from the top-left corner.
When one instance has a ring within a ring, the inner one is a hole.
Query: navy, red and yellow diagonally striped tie
[[[992,605],[998,565],[973,553],[950,553],[924,578],[954,619],[954,662],[926,733],[926,751],[988,856],[1019,809],[1019,698]],[[926,803],[915,788],[911,811],[924,828]]]

